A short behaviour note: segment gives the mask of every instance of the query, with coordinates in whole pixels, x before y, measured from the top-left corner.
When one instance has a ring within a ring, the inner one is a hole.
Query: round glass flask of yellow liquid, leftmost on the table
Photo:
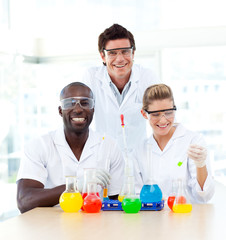
[[[83,204],[82,195],[76,189],[76,177],[66,177],[66,190],[60,196],[60,207],[64,212],[78,212]]]

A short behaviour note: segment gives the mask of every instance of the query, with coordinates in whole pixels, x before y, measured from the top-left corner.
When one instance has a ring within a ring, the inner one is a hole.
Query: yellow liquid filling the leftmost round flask
[[[60,206],[64,212],[78,212],[82,204],[83,199],[79,192],[65,192],[60,196]]]

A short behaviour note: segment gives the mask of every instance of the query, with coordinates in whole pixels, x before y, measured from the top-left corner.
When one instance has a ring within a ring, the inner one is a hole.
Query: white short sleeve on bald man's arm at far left
[[[48,177],[46,159],[47,153],[43,139],[38,138],[30,142],[24,149],[17,181],[20,179],[32,179],[45,185]]]

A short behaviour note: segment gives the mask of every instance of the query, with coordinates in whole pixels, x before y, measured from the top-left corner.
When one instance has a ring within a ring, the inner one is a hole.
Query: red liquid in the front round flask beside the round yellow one
[[[95,193],[90,193],[85,197],[83,203],[83,209],[87,213],[98,213],[102,207],[102,202]]]

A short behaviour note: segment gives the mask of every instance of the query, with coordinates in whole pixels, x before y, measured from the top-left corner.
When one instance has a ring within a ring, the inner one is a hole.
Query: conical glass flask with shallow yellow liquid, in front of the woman
[[[178,191],[173,203],[173,211],[176,213],[188,213],[191,212],[191,210],[192,205],[184,186],[184,181],[182,179],[178,179]]]

